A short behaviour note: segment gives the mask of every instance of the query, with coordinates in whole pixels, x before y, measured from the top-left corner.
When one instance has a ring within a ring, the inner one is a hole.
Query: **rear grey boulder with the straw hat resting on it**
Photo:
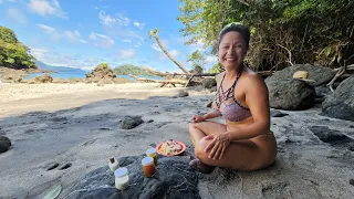
[[[319,86],[322,84],[326,84],[326,83],[331,82],[331,80],[335,75],[335,72],[333,72],[329,67],[324,67],[324,66],[320,66],[320,65],[311,65],[311,64],[295,64],[293,66],[285,67],[281,71],[278,71],[269,78],[275,78],[278,81],[292,80],[293,74],[296,71],[308,71],[309,72],[308,78],[313,80],[314,82],[306,82],[306,83],[312,86]]]

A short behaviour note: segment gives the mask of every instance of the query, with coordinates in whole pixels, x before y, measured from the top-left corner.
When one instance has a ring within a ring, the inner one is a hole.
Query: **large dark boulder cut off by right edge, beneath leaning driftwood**
[[[324,115],[354,122],[354,77],[344,80],[322,103]]]

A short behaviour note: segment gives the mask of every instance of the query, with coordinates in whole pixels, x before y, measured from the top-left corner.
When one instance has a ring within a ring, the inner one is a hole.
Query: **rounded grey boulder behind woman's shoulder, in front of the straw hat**
[[[299,111],[314,105],[315,91],[312,86],[299,80],[269,77],[266,80],[269,90],[269,102],[272,108]]]

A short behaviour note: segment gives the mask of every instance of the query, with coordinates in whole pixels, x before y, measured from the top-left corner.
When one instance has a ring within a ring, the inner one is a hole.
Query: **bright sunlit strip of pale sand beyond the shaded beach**
[[[150,96],[173,96],[185,90],[185,87],[170,88],[158,87],[158,83],[105,84],[104,86],[97,86],[95,83],[0,84],[0,118],[28,112],[74,108],[113,98],[146,100]]]

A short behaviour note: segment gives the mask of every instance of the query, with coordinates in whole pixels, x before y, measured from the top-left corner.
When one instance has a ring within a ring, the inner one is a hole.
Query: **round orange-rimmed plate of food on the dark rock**
[[[186,150],[186,145],[181,142],[169,139],[156,146],[157,154],[163,156],[177,156]]]

